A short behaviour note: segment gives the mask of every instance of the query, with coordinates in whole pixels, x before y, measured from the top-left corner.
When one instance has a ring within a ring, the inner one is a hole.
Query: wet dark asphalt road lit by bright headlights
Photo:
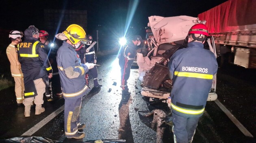
[[[97,139],[125,139],[126,143],[173,143],[171,127],[165,117],[171,114],[166,103],[147,104],[141,94],[138,69],[132,68],[128,86],[132,94],[121,95],[120,70],[116,56],[98,58],[98,79],[103,87],[83,97],[81,122],[85,122],[84,139],[67,139],[64,135],[64,99],[45,100],[46,111],[25,118],[24,107],[15,103],[14,87],[0,90],[0,139],[32,135],[55,141],[85,142]],[[217,74],[218,100],[256,136],[256,70],[228,66]],[[93,83],[91,82],[91,87]],[[59,111],[59,114],[58,114]],[[153,114],[149,114],[153,111]],[[150,116],[151,115],[151,116]],[[49,122],[48,122],[48,121]],[[24,134],[25,133],[25,134]],[[255,138],[246,137],[224,114],[214,101],[206,105],[206,111],[197,126],[194,143],[252,143]]]

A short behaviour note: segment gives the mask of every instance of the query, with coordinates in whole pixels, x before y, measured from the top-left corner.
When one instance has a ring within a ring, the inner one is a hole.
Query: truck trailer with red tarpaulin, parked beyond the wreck
[[[221,66],[256,68],[256,0],[228,0],[198,17],[214,38]]]

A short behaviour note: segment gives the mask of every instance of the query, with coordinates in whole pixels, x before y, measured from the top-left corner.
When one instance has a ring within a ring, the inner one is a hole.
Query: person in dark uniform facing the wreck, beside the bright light
[[[130,94],[127,80],[130,77],[130,68],[135,59],[136,55],[136,46],[139,46],[141,43],[141,36],[135,35],[132,37],[132,40],[128,45],[123,46],[118,55],[119,65],[121,67],[121,88],[122,94]]]

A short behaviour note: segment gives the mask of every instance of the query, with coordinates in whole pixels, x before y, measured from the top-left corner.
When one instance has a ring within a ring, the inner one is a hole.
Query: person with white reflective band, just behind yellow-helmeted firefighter
[[[94,46],[91,49],[88,49],[89,46],[93,43],[93,38],[91,35],[87,35],[87,44],[85,45],[86,53],[85,53],[85,61],[87,63],[95,63],[97,62],[97,57],[95,55],[95,49]],[[89,74],[93,77],[93,86],[95,88],[101,87],[102,85],[98,83],[98,69],[97,66],[94,66],[92,69],[89,69],[89,71],[85,74],[85,79],[87,82],[87,85],[89,86]]]

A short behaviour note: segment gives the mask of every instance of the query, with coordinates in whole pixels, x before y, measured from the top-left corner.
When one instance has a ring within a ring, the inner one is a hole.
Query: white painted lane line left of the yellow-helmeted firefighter
[[[58,114],[60,114],[62,111],[64,111],[64,105],[59,107],[59,109],[56,109],[52,114],[41,120],[39,123],[37,123],[35,126],[30,128],[28,131],[26,131],[21,136],[32,136],[37,130],[42,128],[45,124],[47,124],[50,120],[52,120],[54,117],[56,117]]]

